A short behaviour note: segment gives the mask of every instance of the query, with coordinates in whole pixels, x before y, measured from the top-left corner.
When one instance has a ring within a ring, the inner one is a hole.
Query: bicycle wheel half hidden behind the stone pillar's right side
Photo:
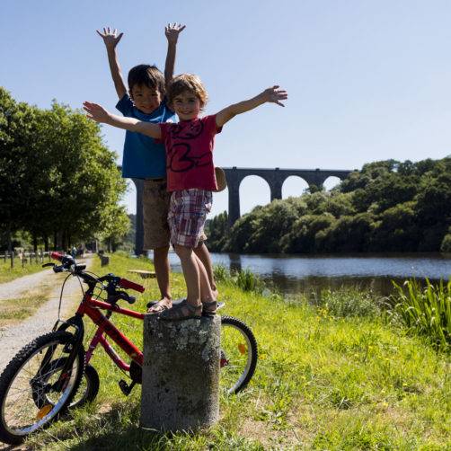
[[[257,340],[232,316],[221,316],[221,391],[237,394],[249,384],[257,366]]]

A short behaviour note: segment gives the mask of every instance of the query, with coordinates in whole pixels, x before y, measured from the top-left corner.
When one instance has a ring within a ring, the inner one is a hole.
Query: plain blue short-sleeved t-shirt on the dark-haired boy
[[[128,93],[124,94],[116,108],[127,118],[155,123],[177,121],[175,113],[165,102],[161,102],[151,114],[146,114],[137,109]],[[164,143],[156,144],[153,137],[127,130],[122,157],[122,177],[137,179],[166,177]]]

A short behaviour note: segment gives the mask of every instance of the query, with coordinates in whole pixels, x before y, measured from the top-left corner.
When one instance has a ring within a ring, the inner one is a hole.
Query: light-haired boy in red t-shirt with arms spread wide
[[[177,113],[177,124],[153,124],[121,118],[101,105],[84,102],[89,119],[154,137],[166,147],[168,191],[172,192],[168,222],[171,242],[181,259],[188,296],[185,303],[159,313],[168,321],[215,314],[216,300],[208,283],[204,265],[193,252],[203,233],[211,209],[212,191],[217,190],[213,146],[223,125],[237,114],[253,110],[263,103],[287,99],[287,92],[272,86],[250,100],[235,103],[216,115],[199,118],[208,102],[208,94],[197,75],[182,74],[166,87],[168,103]]]

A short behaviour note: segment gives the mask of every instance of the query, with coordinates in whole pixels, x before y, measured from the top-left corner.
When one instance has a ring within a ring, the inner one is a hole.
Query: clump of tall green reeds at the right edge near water
[[[436,348],[451,349],[451,278],[446,285],[440,280],[434,286],[426,279],[422,287],[413,278],[404,287],[396,283],[394,287],[397,295],[390,296],[394,319],[401,319],[410,332],[428,337]]]

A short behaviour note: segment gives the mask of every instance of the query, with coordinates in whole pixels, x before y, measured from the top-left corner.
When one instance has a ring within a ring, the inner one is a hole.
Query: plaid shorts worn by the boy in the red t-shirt
[[[168,215],[172,244],[198,246],[205,236],[204,225],[212,199],[211,191],[198,188],[172,192]]]

